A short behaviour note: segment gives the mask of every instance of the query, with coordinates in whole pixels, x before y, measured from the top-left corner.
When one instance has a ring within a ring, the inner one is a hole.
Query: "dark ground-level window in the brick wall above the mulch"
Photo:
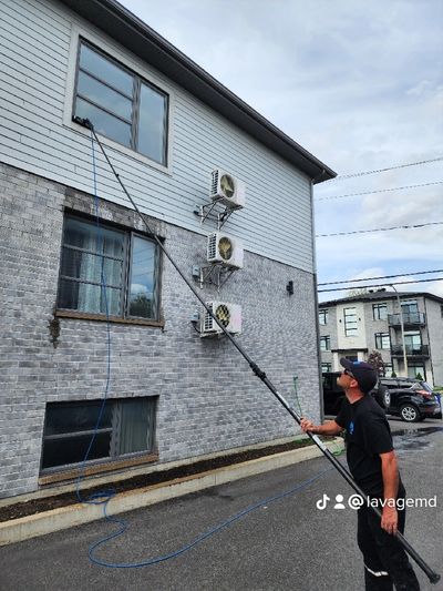
[[[151,452],[155,446],[156,397],[47,405],[41,469],[80,463],[95,432],[87,460],[116,459]]]

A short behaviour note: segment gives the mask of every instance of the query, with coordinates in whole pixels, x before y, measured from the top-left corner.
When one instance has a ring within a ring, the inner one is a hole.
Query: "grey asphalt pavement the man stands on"
[[[436,507],[411,508],[406,539],[443,572],[443,422],[391,419],[409,497],[436,497]],[[344,461],[343,456],[341,459]],[[202,532],[329,468],[323,458],[254,476],[124,514],[127,531],[97,549],[114,563],[145,561],[189,543]],[[324,510],[316,507],[328,495]],[[144,568],[105,568],[87,557],[90,544],[116,529],[104,520],[0,548],[0,589],[17,590],[261,590],[359,591],[363,571],[356,543],[352,493],[327,471],[291,495],[223,528],[187,552]],[[334,509],[337,495],[344,509]],[[423,590],[430,585],[416,568]]]

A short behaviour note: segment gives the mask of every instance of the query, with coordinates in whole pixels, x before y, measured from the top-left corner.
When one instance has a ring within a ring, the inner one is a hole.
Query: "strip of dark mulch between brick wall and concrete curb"
[[[126,490],[135,490],[152,485],[158,485],[161,482],[175,480],[176,478],[186,478],[197,473],[206,472],[208,470],[214,470],[216,468],[224,468],[225,466],[241,463],[244,461],[262,458],[265,456],[272,456],[274,454],[280,454],[282,451],[290,451],[292,449],[298,449],[310,445],[313,445],[310,439],[302,439],[299,441],[280,444],[278,446],[239,451],[238,454],[230,454],[229,456],[219,456],[217,458],[196,461],[194,463],[179,466],[169,470],[134,476],[132,478],[127,478],[126,480],[109,482],[106,485],[101,485],[100,487],[89,488],[82,492],[82,497],[89,498],[94,492],[100,492],[104,489],[113,489],[115,493],[124,492]],[[18,519],[20,517],[42,513],[59,507],[76,505],[78,502],[79,500],[75,492],[65,492],[54,497],[47,497],[45,499],[33,499],[25,502],[17,502],[14,505],[0,508],[0,521],[9,521],[10,519]]]

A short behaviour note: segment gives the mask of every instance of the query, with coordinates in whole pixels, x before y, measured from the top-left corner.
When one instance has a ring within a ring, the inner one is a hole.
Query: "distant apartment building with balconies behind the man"
[[[400,307],[399,307],[400,302]],[[404,332],[404,348],[402,336]],[[443,384],[443,298],[381,289],[319,305],[322,371],[338,371],[340,357],[367,360],[377,350],[385,376]],[[404,351],[406,357],[405,370]]]

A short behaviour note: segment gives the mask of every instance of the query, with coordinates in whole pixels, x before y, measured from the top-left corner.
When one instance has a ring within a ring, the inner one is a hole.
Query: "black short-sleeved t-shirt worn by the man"
[[[349,469],[360,488],[371,496],[383,495],[380,454],[392,451],[392,436],[384,411],[364,396],[351,404],[343,400],[336,422],[346,429]]]

